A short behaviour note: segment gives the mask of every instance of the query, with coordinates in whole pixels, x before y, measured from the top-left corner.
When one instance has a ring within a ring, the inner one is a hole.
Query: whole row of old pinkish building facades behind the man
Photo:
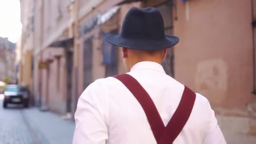
[[[251,24],[256,24],[252,19],[256,2],[252,2],[33,0],[33,36],[21,38],[21,49],[31,51],[32,62],[21,61],[32,67],[35,104],[74,115],[77,100],[90,83],[126,72],[120,49],[104,37],[120,32],[132,6],[155,7],[163,15],[165,34],[180,38],[163,62],[167,74],[210,101],[229,144],[254,144],[256,62]],[[21,11],[28,8],[30,4],[21,5]]]

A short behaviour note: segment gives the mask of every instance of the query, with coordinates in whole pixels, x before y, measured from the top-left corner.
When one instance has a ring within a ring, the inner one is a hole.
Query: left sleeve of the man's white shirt
[[[81,94],[75,112],[73,144],[106,144],[108,139],[103,91],[96,82]]]

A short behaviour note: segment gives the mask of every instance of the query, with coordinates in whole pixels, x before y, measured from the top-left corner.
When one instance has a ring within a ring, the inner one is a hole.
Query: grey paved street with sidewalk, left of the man
[[[75,123],[37,108],[8,105],[0,94],[0,144],[71,144]]]

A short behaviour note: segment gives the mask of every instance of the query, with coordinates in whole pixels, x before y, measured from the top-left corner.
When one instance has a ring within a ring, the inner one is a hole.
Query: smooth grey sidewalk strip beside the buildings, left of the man
[[[75,129],[73,120],[63,120],[61,115],[42,112],[38,108],[22,109],[24,118],[38,144],[72,144]]]

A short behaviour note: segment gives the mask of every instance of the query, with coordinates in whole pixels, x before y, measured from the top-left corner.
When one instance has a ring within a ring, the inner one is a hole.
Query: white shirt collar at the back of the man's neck
[[[137,64],[135,64],[131,68],[131,72],[134,71],[134,70],[138,70],[138,69],[151,69],[151,70],[155,70],[155,71],[165,73],[165,70],[163,69],[162,65],[158,64],[156,62],[153,62],[153,61],[138,62]]]

